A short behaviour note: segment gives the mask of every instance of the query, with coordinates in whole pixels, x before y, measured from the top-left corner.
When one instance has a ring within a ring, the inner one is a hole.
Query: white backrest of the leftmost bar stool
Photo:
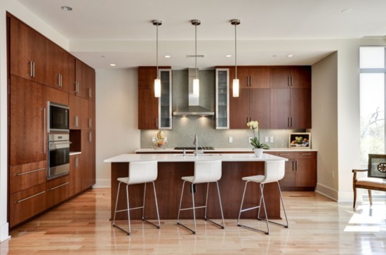
[[[148,183],[157,179],[157,161],[128,163],[128,183]]]

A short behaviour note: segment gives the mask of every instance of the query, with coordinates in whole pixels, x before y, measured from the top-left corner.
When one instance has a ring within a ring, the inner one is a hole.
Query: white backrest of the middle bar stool
[[[221,178],[221,160],[194,162],[194,183],[211,183]]]

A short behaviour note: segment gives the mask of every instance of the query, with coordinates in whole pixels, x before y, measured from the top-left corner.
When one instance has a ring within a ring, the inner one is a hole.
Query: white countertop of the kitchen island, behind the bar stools
[[[168,153],[146,153],[146,154],[121,154],[116,157],[111,157],[105,159],[105,163],[115,163],[115,162],[135,162],[135,161],[146,161],[146,160],[156,160],[157,162],[195,162],[195,161],[205,161],[205,160],[221,160],[224,162],[251,162],[251,161],[277,161],[288,159],[284,157],[277,157],[274,155],[263,154],[262,157],[255,157],[252,153],[205,153],[199,156],[193,154],[182,155],[179,154],[168,154]]]

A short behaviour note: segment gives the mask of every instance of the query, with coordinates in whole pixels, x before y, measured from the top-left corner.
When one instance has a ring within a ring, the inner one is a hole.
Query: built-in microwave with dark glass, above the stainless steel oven
[[[48,133],[69,133],[69,107],[48,101]]]

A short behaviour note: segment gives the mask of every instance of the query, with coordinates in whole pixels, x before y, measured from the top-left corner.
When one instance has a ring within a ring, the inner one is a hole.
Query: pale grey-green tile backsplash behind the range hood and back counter
[[[187,70],[173,70],[173,112],[177,107],[187,106]],[[213,109],[215,105],[215,70],[200,70],[200,105]],[[271,148],[287,148],[288,133],[305,130],[260,129],[260,141],[265,138],[274,142],[267,145]],[[141,130],[141,148],[152,148],[152,137],[158,130]],[[248,138],[253,136],[251,129],[215,129],[215,117],[176,117],[173,116],[173,129],[164,130],[168,137],[168,147],[192,147],[194,136],[199,137],[199,146],[214,148],[252,148]],[[232,137],[232,143],[229,143]]]

